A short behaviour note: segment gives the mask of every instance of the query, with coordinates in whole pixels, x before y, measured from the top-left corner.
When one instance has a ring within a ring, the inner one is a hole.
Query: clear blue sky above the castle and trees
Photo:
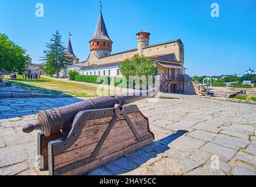
[[[44,5],[44,18],[35,16],[38,2]],[[210,16],[212,3],[220,6],[219,18]],[[112,53],[136,48],[135,34],[146,29],[150,44],[183,41],[189,75],[256,69],[255,0],[102,0],[102,6],[114,42]],[[84,61],[98,16],[98,0],[0,0],[0,33],[38,63],[55,30],[63,35],[65,45],[71,32],[74,53]]]

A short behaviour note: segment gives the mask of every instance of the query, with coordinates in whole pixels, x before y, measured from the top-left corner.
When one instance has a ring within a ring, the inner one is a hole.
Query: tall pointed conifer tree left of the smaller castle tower
[[[65,47],[63,46],[62,36],[56,30],[50,43],[46,43],[47,50],[44,50],[44,57],[41,57],[41,61],[44,61],[44,70],[47,74],[56,74],[65,68],[68,64],[67,56],[65,54]]]

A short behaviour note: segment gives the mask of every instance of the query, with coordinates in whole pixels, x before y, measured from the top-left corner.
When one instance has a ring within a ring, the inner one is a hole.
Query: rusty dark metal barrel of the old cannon
[[[45,136],[49,137],[51,134],[71,126],[75,116],[82,110],[113,108],[116,104],[127,105],[140,101],[141,99],[151,98],[154,96],[154,92],[155,89],[151,89],[149,91],[133,92],[133,94],[127,95],[115,94],[102,96],[57,109],[40,110],[37,121],[33,124],[27,124],[22,130],[24,133],[41,130]]]

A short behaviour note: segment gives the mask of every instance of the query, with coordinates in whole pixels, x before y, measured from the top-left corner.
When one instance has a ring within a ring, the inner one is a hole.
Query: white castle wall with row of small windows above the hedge
[[[109,75],[109,70],[110,70],[110,75]],[[92,69],[88,69],[88,70],[80,70],[80,74],[81,75],[91,75],[90,73],[92,73],[92,75],[94,75],[94,72],[96,73],[95,75],[101,75],[103,76],[103,71],[105,71],[105,76],[109,76],[109,77],[121,77],[121,72],[119,75],[117,75],[117,70],[119,70],[119,65],[113,65],[110,67],[99,67],[99,68],[92,68]],[[100,72],[100,74],[99,74]]]

